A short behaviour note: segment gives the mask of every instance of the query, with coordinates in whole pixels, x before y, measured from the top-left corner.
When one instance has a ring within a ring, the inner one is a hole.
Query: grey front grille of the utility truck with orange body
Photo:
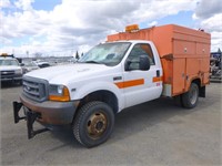
[[[48,98],[48,82],[40,79],[23,77],[23,94],[33,101],[43,102]]]

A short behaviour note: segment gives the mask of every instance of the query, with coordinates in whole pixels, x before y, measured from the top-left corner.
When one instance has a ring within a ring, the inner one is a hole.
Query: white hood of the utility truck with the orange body
[[[108,71],[110,66],[103,64],[75,63],[67,65],[49,66],[31,71],[26,76],[38,77],[54,84],[65,84],[73,80],[81,80],[92,76],[101,71]]]

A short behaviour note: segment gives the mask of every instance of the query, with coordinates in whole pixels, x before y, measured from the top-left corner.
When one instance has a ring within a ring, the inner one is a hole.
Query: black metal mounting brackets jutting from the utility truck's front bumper
[[[49,131],[49,128],[41,128],[41,129],[33,129],[33,123],[36,122],[36,120],[40,116],[38,113],[32,112],[30,110],[28,110],[26,112],[24,116],[19,116],[19,112],[21,111],[21,107],[23,106],[22,103],[18,103],[18,102],[13,102],[13,116],[14,116],[14,123],[19,123],[19,121],[21,120],[26,120],[27,121],[27,131],[28,131],[28,138],[32,138],[34,137],[37,134],[43,133]]]

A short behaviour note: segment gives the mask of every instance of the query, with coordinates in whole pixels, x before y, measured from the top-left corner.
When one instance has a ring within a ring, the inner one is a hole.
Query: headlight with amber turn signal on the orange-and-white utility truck
[[[70,94],[68,87],[64,85],[50,85],[49,100],[60,101],[60,102],[70,101]]]

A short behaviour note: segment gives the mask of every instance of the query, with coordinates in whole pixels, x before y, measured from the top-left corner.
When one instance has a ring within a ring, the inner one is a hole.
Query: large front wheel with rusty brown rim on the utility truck
[[[72,124],[75,139],[85,147],[104,143],[114,126],[114,113],[103,102],[90,102],[79,111]]]

